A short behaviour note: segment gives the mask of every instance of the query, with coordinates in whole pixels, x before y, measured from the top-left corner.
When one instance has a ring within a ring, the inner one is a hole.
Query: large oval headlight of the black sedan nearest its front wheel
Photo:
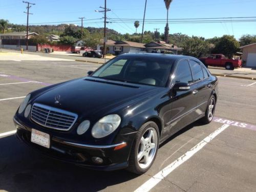
[[[121,122],[119,115],[107,115],[101,118],[92,129],[92,136],[94,138],[102,138],[113,133]]]

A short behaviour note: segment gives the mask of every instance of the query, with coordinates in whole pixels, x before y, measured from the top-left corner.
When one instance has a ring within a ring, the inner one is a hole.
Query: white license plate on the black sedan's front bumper
[[[44,146],[46,148],[50,148],[50,135],[47,133],[32,129],[31,142]]]

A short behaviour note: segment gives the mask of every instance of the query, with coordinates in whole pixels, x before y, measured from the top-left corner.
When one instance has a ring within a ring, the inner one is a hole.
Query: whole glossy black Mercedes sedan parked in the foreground
[[[168,137],[211,122],[217,96],[217,77],[194,57],[123,54],[28,94],[13,120],[17,137],[47,156],[142,174]]]

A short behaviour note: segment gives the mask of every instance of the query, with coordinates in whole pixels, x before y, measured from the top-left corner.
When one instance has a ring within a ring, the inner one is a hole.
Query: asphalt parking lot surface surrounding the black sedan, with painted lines
[[[159,148],[137,176],[98,172],[34,152],[14,136],[12,117],[29,92],[86,76],[100,65],[72,60],[0,60],[0,190],[255,191],[256,81],[219,77],[215,119],[193,123]]]

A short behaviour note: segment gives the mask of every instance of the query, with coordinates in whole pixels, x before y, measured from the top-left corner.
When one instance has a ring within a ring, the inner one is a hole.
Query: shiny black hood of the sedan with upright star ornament
[[[159,87],[86,77],[60,84],[39,94],[34,103],[78,114],[113,113],[159,91]],[[55,101],[59,100],[59,103]]]

